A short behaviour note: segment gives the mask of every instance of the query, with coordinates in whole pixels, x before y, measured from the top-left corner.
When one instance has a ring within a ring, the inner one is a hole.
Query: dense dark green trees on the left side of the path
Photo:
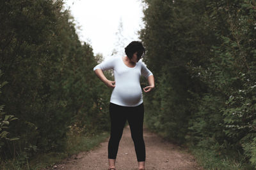
[[[0,17],[0,82],[8,82],[0,104],[17,118],[8,125],[13,140],[0,141],[1,159],[62,150],[70,128],[107,129],[109,90],[93,73],[100,56],[79,41],[63,1],[1,1]]]

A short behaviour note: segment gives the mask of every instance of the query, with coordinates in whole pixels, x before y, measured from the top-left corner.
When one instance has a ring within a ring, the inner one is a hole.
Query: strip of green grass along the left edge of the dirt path
[[[100,134],[94,134],[92,136],[77,136],[69,134],[65,151],[38,154],[29,161],[27,159],[22,160],[23,164],[25,162],[23,166],[20,166],[20,160],[9,160],[8,162],[0,164],[0,169],[38,170],[46,167],[52,167],[54,164],[61,162],[61,160],[68,158],[71,155],[96,148],[108,137],[109,132],[101,132]]]

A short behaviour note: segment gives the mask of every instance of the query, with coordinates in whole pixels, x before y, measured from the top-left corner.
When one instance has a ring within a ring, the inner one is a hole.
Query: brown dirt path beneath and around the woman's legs
[[[145,169],[203,169],[195,162],[195,158],[189,153],[182,152],[178,146],[168,143],[156,134],[144,130],[146,145]],[[108,169],[108,139],[98,148],[90,152],[81,152],[70,159],[63,160],[56,169],[87,170]],[[138,162],[134,150],[129,126],[124,128],[116,158],[117,170],[136,170]]]

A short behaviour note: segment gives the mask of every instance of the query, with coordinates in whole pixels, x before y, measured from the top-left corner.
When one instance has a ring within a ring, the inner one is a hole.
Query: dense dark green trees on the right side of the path
[[[256,167],[256,2],[144,3],[140,37],[156,77],[148,127]]]

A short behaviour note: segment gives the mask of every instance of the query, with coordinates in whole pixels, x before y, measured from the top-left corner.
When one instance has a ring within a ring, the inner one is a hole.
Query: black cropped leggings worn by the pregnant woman
[[[132,140],[138,162],[145,161],[145,143],[143,139],[143,118],[144,106],[126,107],[117,104],[109,104],[109,114],[111,119],[111,134],[108,143],[108,158],[116,159],[120,139],[126,120],[128,120]]]

